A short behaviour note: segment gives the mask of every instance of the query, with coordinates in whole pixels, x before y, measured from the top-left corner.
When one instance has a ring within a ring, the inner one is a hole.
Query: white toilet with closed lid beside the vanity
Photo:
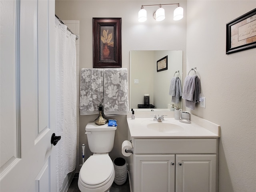
[[[107,192],[115,178],[114,164],[108,153],[114,146],[116,127],[90,122],[85,130],[89,149],[94,154],[79,172],[78,188],[81,192]]]

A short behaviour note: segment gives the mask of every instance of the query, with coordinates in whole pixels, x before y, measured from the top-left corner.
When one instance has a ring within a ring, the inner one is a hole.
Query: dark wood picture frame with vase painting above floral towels
[[[122,18],[92,18],[93,68],[122,67]]]

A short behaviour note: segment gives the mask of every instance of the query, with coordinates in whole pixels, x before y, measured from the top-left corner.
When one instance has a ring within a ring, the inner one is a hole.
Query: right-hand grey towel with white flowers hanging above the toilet
[[[126,68],[104,69],[104,114],[127,115],[128,105],[128,72]]]

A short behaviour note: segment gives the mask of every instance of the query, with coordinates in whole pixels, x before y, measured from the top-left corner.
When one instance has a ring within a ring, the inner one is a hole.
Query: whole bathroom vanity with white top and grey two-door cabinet
[[[185,124],[173,114],[163,122],[127,116],[131,192],[216,192],[220,126],[196,116]]]

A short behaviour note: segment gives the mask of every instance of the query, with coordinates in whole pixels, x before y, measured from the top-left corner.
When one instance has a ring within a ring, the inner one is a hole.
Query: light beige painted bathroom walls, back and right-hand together
[[[221,126],[219,192],[255,192],[256,48],[230,55],[225,49],[226,23],[256,8],[256,1],[179,2],[184,8],[179,22],[154,21],[154,8],[147,8],[147,22],[137,22],[140,6],[157,0],[57,0],[56,14],[80,20],[80,68],[92,68],[92,17],[122,17],[122,67],[130,66],[130,50],[183,50],[183,70],[187,74],[197,67],[206,96],[206,108],[197,106],[192,113]],[[80,116],[80,145],[87,142],[84,127],[95,118]],[[111,158],[122,156],[121,143],[127,138],[126,116],[113,118],[118,130]]]

